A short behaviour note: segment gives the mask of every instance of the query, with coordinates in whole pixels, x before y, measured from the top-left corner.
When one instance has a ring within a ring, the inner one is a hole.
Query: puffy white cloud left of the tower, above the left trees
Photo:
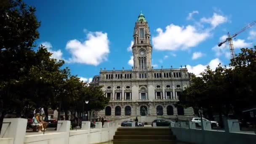
[[[97,66],[103,61],[107,61],[109,53],[109,40],[107,33],[88,32],[87,40],[70,40],[67,42],[66,49],[71,53],[68,62],[91,64]]]

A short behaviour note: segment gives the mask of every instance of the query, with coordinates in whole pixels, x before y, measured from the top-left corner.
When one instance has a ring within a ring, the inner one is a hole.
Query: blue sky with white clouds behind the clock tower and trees
[[[149,22],[154,67],[199,74],[208,64],[229,64],[227,35],[256,20],[255,0],[24,0],[37,8],[40,39],[64,59],[73,75],[88,80],[100,68],[131,69],[128,51],[142,11]],[[235,52],[256,45],[256,26],[234,40]],[[131,61],[130,61],[131,62]],[[131,63],[130,63],[131,64]]]

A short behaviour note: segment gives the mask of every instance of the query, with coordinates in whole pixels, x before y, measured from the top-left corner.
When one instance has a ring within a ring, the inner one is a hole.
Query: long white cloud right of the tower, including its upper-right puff
[[[193,12],[192,12],[193,13]],[[192,13],[190,14],[192,16]],[[194,11],[194,13],[197,13]],[[195,47],[212,35],[212,30],[227,22],[226,16],[213,13],[209,18],[201,18],[193,25],[179,26],[170,24],[165,29],[157,28],[157,35],[152,37],[154,48],[161,51],[187,50]],[[205,27],[209,23],[211,26]]]

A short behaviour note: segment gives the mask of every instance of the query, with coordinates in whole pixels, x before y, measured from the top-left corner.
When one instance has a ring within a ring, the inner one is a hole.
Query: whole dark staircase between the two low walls
[[[170,128],[118,128],[113,144],[176,144]]]

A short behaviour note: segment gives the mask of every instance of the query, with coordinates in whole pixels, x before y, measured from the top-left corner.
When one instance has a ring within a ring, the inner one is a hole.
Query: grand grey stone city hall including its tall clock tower
[[[175,105],[181,91],[189,86],[187,68],[152,67],[149,25],[142,13],[135,23],[133,41],[131,70],[101,69],[100,75],[93,77],[91,85],[102,85],[110,100],[98,116],[119,121],[138,117],[148,123],[176,116],[184,120],[192,118],[192,108]]]

